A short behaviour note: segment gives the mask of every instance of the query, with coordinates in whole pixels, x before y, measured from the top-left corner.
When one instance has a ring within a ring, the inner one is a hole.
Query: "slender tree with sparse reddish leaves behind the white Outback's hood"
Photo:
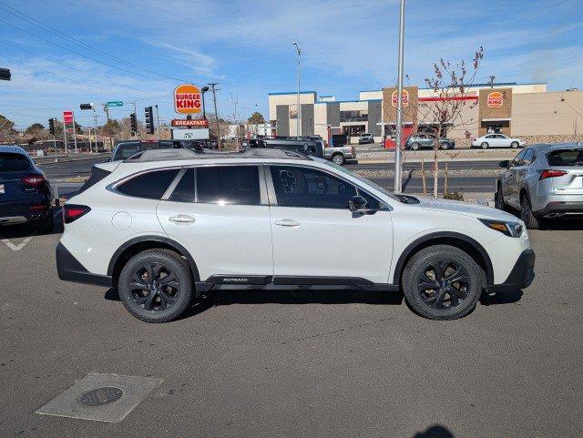
[[[435,97],[438,97],[425,107],[419,107],[418,116],[418,123],[423,121],[432,127],[426,134],[434,139],[434,198],[437,198],[438,195],[439,161],[437,151],[441,146],[439,139],[442,138],[448,127],[465,128],[469,123],[468,120],[464,120],[464,110],[476,107],[478,100],[468,100],[465,97],[468,96],[468,89],[474,84],[483,58],[484,48],[482,46],[476,50],[469,68],[464,60],[452,65],[442,58],[434,64],[433,76],[424,79],[427,87],[433,90]],[[469,132],[467,129],[465,131],[465,135],[468,137]]]

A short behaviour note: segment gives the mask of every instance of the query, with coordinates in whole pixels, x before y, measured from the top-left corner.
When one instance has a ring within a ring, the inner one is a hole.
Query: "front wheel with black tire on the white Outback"
[[[455,279],[459,280],[452,281]],[[419,315],[430,320],[456,320],[476,308],[483,279],[484,271],[464,250],[435,245],[414,254],[404,268],[402,281],[405,299]],[[427,288],[422,289],[424,286]]]

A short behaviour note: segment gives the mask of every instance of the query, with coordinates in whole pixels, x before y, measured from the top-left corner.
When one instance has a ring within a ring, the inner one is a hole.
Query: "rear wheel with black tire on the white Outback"
[[[128,312],[138,320],[176,320],[192,298],[189,264],[171,250],[145,250],[128,260],[121,270],[118,292]]]

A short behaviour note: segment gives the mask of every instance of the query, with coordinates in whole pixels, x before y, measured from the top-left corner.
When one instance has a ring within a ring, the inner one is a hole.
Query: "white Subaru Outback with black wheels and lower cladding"
[[[116,288],[132,315],[164,322],[233,285],[403,290],[452,320],[534,277],[527,230],[503,211],[393,195],[292,151],[187,152],[98,165],[64,206],[59,278]]]

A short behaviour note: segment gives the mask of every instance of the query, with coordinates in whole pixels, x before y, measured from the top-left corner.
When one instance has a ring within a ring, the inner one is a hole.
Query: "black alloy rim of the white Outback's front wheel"
[[[464,302],[471,288],[470,276],[455,260],[435,260],[417,278],[417,293],[432,309],[455,309]]]

